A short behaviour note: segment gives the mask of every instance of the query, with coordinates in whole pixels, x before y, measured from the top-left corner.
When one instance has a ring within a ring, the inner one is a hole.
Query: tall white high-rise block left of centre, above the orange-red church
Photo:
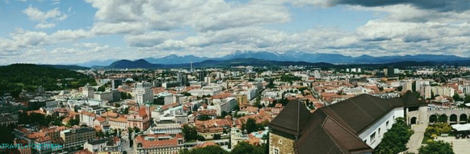
[[[153,103],[153,90],[152,84],[147,82],[137,83],[133,93],[135,94],[135,101],[137,104],[152,104]]]

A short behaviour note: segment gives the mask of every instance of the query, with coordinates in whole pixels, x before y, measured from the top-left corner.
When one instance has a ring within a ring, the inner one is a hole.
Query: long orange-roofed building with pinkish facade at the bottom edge
[[[172,137],[168,134],[139,135],[134,139],[134,153],[170,154],[178,153],[184,148],[183,136],[177,134]]]

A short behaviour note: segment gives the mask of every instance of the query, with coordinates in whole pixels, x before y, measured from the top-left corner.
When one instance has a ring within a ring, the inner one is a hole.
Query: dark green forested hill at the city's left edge
[[[0,66],[0,94],[18,96],[21,90],[35,91],[38,86],[48,90],[71,89],[87,83],[96,85],[92,76],[67,69],[34,64]]]

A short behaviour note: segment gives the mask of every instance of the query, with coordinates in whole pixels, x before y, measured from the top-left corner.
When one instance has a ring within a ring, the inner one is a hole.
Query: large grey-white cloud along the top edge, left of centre
[[[93,29],[113,27],[116,33],[131,33],[128,25],[145,30],[190,27],[204,32],[229,28],[282,23],[290,20],[283,5],[209,1],[97,1],[87,0],[98,11]],[[97,31],[101,32],[101,31]]]

